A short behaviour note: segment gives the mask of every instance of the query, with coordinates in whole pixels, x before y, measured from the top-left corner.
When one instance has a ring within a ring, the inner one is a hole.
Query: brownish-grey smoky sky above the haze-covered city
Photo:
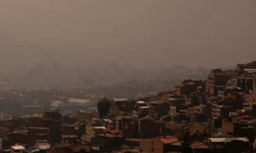
[[[0,64],[250,62],[256,60],[255,6],[255,0],[1,1]]]

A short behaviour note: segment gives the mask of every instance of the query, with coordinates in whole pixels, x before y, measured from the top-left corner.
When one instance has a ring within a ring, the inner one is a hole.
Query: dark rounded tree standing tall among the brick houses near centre
[[[100,119],[102,119],[103,117],[106,117],[106,115],[108,115],[109,108],[111,107],[111,101],[108,98],[104,97],[99,100],[99,102],[97,103],[97,107]]]

